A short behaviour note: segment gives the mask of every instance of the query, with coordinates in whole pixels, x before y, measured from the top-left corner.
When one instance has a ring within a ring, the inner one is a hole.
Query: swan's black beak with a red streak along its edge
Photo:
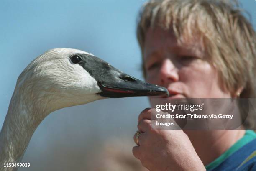
[[[120,98],[132,96],[169,96],[166,88],[133,78],[107,62],[88,54],[76,54],[79,63],[98,82],[103,97]]]

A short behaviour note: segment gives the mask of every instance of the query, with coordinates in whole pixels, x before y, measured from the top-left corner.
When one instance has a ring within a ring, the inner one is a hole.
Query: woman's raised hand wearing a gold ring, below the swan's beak
[[[182,130],[152,128],[151,114],[154,113],[155,109],[146,108],[139,115],[138,130],[142,134],[138,138],[139,146],[133,147],[133,155],[150,171],[205,171]]]

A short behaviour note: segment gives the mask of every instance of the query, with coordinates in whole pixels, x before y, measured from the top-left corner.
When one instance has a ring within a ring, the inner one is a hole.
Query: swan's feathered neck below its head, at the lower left
[[[18,169],[3,167],[3,165],[21,161],[34,131],[45,116],[33,117],[33,113],[36,111],[31,107],[32,104],[24,100],[22,95],[16,94],[18,93],[13,93],[0,132],[0,171],[16,171]]]

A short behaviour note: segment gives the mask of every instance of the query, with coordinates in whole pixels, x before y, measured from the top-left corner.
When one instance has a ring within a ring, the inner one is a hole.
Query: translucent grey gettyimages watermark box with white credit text
[[[256,129],[256,99],[151,99],[160,130]]]

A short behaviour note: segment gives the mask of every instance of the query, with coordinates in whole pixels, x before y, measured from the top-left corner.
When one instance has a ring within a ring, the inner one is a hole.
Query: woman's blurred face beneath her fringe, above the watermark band
[[[199,38],[179,45],[170,31],[149,29],[143,50],[146,81],[166,87],[169,98],[230,98],[202,47]]]

